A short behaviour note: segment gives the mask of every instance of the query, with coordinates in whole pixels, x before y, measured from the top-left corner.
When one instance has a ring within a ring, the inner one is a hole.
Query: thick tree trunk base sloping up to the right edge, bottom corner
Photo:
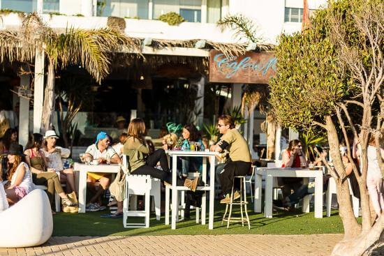
[[[376,223],[367,232],[362,232],[354,239],[344,239],[337,243],[332,250],[332,256],[360,256],[371,246],[374,246],[383,233],[384,214],[376,220]]]

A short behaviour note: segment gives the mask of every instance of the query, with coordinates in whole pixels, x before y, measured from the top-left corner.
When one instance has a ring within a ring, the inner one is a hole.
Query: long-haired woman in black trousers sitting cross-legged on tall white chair
[[[124,155],[128,157],[128,167],[132,175],[149,175],[172,184],[172,174],[168,168],[168,159],[163,149],[158,149],[149,154],[149,148],[145,141],[145,123],[142,119],[132,119],[128,126],[128,138],[124,144]],[[161,169],[154,166],[160,162]],[[199,177],[193,181],[177,179],[177,186],[186,186],[195,191],[198,186]],[[123,202],[117,202],[115,214],[107,214],[103,218],[120,218],[123,216]]]

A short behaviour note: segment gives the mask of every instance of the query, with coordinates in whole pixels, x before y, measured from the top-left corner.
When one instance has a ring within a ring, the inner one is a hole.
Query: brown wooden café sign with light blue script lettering
[[[268,84],[276,74],[276,57],[272,52],[247,52],[242,56],[226,57],[209,52],[209,82]]]

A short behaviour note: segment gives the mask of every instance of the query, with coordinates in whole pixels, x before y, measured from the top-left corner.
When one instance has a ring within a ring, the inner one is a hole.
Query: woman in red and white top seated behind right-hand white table
[[[281,167],[300,168],[308,166],[300,140],[291,140],[286,151],[283,151],[282,158],[283,165]],[[302,178],[283,177],[281,181],[283,182],[283,198],[290,195],[290,190],[295,191],[302,186]]]

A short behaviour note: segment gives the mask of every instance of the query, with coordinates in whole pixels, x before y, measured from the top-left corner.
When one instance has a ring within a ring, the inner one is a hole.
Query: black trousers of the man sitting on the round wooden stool
[[[230,193],[232,190],[232,186],[239,189],[239,179],[237,179],[234,184],[235,176],[245,176],[248,174],[251,169],[250,162],[243,161],[230,161],[226,164],[223,171],[219,174],[220,184],[221,184],[221,192],[223,195]]]

